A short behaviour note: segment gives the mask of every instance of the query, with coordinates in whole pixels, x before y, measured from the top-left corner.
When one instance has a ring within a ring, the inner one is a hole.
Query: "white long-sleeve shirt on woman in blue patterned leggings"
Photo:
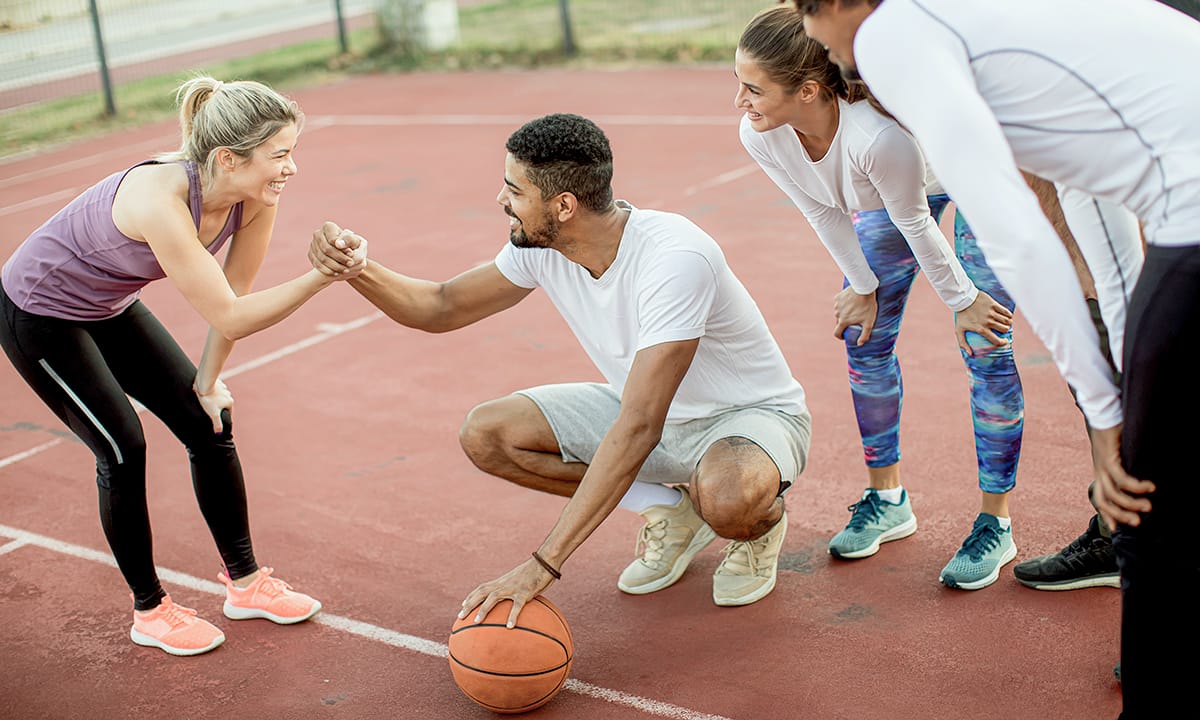
[[[871,293],[880,281],[851,214],[886,208],[942,302],[965,310],[979,290],[929,214],[925,196],[942,190],[917,143],[866,102],[839,100],[838,108],[838,131],[821,160],[809,157],[790,125],[757,132],[743,116],[742,144],[804,214],[856,293]]]

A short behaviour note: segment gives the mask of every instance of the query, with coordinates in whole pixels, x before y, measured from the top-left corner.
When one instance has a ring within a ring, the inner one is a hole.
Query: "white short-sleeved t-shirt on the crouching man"
[[[514,284],[546,292],[618,394],[638,350],[698,337],[667,422],[745,407],[805,413],[804,389],[716,241],[680,215],[619,205],[629,220],[599,278],[557,250],[511,244],[496,266]]]

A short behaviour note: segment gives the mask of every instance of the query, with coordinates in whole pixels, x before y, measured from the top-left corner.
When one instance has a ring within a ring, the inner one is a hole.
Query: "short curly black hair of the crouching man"
[[[612,206],[612,149],[587,118],[556,113],[530,120],[504,148],[528,168],[542,199],[569,192],[594,212]]]

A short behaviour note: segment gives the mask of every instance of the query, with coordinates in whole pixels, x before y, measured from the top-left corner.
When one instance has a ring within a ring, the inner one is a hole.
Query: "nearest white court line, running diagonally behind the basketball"
[[[29,530],[19,530],[17,528],[0,524],[0,536],[13,539],[12,542],[0,546],[0,554],[11,552],[12,550],[17,550],[18,547],[25,545],[34,545],[36,547],[42,547],[61,554],[91,560],[94,563],[108,565],[109,568],[116,568],[116,560],[113,559],[113,556],[106,552],[100,552],[97,550],[84,547],[82,545],[74,545],[72,542],[65,542],[62,540],[55,540],[54,538],[47,538],[46,535],[38,535],[37,533],[30,533]],[[158,577],[166,582],[200,593],[208,593],[210,595],[224,595],[223,584],[209,580],[202,580],[193,575],[187,575],[186,572],[169,570],[167,568],[156,568],[156,570],[158,571]],[[424,637],[416,637],[415,635],[397,632],[396,630],[389,630],[388,628],[380,628],[379,625],[372,625],[371,623],[336,616],[325,611],[322,611],[308,622],[318,623],[349,635],[356,635],[359,637],[382,642],[395,648],[420,653],[422,655],[432,655],[434,658],[446,658],[449,655],[449,648],[446,648],[445,643],[425,640]],[[672,720],[730,720],[722,715],[698,713],[696,710],[690,710],[671,703],[630,695],[610,688],[601,688],[599,685],[593,685],[576,679],[568,679],[564,689],[578,692],[580,695],[604,700],[606,702],[628,706],[648,715],[671,718]]]

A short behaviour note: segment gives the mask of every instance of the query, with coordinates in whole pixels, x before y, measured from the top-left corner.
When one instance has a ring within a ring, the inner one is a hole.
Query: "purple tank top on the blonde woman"
[[[199,170],[191,161],[180,164],[187,170],[187,204],[198,232]],[[100,320],[120,314],[146,283],[167,276],[150,245],[126,238],[113,222],[116,188],[133,168],[89,187],[20,244],[0,271],[4,290],[17,307],[53,318]],[[241,203],[233,206],[208,247],[210,253],[216,254],[241,227]]]

